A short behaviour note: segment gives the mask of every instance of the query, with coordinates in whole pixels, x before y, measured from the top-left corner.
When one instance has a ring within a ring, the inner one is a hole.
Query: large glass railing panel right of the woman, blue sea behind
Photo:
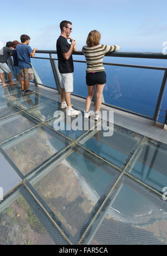
[[[154,116],[164,70],[105,65],[104,101],[110,105]]]

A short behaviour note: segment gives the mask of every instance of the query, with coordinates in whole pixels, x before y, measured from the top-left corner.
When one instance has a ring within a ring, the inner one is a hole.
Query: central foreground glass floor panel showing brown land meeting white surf
[[[52,163],[30,183],[38,200],[50,208],[57,222],[61,221],[61,228],[77,242],[120,172],[77,146],[66,154],[68,157]]]

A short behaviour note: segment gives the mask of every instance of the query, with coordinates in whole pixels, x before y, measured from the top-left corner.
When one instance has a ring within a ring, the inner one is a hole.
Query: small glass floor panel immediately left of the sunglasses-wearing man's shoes
[[[32,116],[36,117],[38,120],[46,121],[53,118],[54,113],[60,110],[60,103],[56,101],[50,101],[43,103],[39,106],[33,107],[26,112],[30,113]]]

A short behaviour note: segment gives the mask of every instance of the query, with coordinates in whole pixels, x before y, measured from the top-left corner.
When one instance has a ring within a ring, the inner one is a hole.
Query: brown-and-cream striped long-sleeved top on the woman
[[[118,45],[96,45],[91,47],[85,45],[82,48],[82,53],[84,53],[86,58],[86,72],[104,71],[105,68],[102,65],[104,55],[117,50],[120,50],[120,46]]]

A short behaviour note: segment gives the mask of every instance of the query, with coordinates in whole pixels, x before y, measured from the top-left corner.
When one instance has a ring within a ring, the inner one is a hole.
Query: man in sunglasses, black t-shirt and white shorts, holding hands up
[[[56,49],[58,57],[58,69],[61,73],[61,108],[67,107],[67,115],[79,115],[81,111],[74,110],[71,106],[71,92],[73,92],[73,59],[72,51],[77,51],[76,42],[70,36],[72,23],[62,21],[60,23],[61,35],[57,39]],[[67,40],[70,39],[71,44]]]

